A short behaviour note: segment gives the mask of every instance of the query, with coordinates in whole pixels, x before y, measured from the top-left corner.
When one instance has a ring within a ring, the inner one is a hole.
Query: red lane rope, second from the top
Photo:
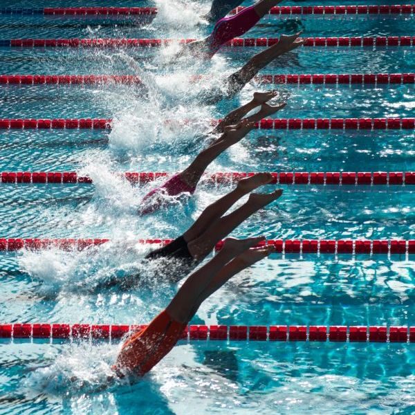
[[[304,37],[304,46],[412,46],[415,37],[412,36],[379,36],[379,37]],[[196,39],[4,39],[0,46],[24,48],[114,48],[114,47],[157,47],[172,43],[187,44]],[[237,38],[225,46],[232,47],[268,47],[278,43],[278,38]]]

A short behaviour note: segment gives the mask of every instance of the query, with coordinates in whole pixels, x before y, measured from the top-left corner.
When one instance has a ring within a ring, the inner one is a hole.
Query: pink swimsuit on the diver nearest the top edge
[[[211,55],[214,55],[229,40],[248,32],[258,21],[259,16],[254,6],[247,7],[234,16],[218,20],[209,37]]]

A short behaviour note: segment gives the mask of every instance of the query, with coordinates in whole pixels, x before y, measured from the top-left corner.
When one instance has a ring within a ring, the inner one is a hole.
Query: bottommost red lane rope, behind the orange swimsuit
[[[0,324],[2,339],[119,340],[145,324]],[[205,326],[185,328],[182,340],[294,342],[415,342],[414,326]]]

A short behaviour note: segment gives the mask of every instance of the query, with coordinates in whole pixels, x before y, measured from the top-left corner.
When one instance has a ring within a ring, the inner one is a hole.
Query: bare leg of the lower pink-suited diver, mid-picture
[[[223,151],[242,140],[242,138],[254,127],[255,125],[253,122],[249,123],[242,121],[236,126],[236,129],[227,131],[221,140],[217,140],[207,149],[201,151],[201,153],[193,160],[192,164],[183,170],[183,172],[179,173],[181,181],[189,185],[189,187],[196,187],[208,165],[210,165],[219,154],[223,153]]]

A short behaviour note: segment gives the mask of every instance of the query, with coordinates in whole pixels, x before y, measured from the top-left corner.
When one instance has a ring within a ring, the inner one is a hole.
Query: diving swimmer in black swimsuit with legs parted
[[[264,208],[282,195],[281,189],[270,194],[250,194],[257,187],[270,183],[271,179],[272,176],[269,173],[258,173],[243,178],[234,190],[203,210],[199,219],[181,237],[167,246],[150,252],[146,258],[185,259],[190,268],[194,268],[197,262],[212,252],[216,243],[227,237],[232,230],[257,210]],[[247,194],[250,196],[246,203],[225,215],[234,203]],[[174,278],[174,273],[172,273],[172,278]]]

